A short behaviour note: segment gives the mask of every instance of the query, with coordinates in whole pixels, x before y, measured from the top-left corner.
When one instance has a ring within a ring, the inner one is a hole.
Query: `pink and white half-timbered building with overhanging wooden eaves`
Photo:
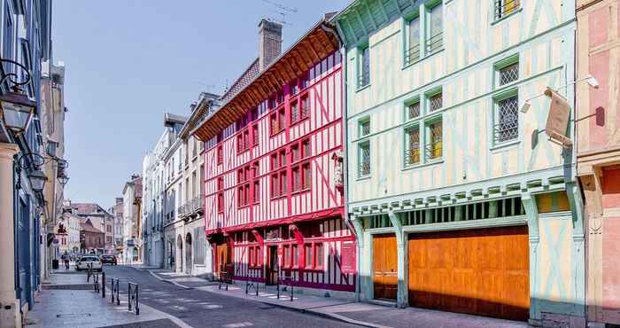
[[[354,291],[342,59],[328,18],[194,130],[206,144],[205,232],[217,276]]]

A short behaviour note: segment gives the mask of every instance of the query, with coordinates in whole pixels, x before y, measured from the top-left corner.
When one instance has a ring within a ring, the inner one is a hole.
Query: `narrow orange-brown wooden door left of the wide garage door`
[[[373,238],[373,285],[375,299],[396,300],[398,290],[398,256],[396,236],[377,235]]]

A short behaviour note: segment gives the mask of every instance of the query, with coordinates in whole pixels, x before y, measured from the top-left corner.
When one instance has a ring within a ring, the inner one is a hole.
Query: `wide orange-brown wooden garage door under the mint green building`
[[[527,320],[529,254],[526,226],[410,235],[409,303]]]

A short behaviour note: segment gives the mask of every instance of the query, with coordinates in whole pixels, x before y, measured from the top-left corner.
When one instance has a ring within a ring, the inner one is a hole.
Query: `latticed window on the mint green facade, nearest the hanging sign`
[[[519,96],[510,90],[493,99],[493,141],[502,144],[519,137]]]

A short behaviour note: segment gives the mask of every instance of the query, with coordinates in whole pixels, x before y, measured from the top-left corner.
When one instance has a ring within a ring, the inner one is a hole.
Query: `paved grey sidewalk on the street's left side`
[[[128,311],[127,297],[120,295],[120,305],[112,305],[109,289],[106,298],[95,293],[86,274],[59,269],[43,283],[35,299],[35,307],[27,313],[28,327],[95,328],[122,327],[183,327],[178,319],[140,304],[140,316]],[[124,298],[124,299],[123,299]]]

